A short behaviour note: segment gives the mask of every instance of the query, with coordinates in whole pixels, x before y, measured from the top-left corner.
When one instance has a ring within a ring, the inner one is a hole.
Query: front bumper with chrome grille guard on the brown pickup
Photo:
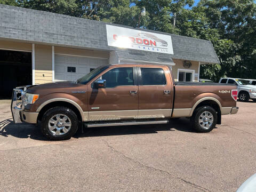
[[[37,123],[38,113],[24,111],[24,96],[29,86],[16,87],[12,92],[11,111],[14,123]]]

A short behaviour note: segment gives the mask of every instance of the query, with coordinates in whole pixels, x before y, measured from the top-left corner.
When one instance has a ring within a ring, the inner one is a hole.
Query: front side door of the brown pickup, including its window
[[[138,116],[138,83],[135,67],[110,67],[97,79],[106,80],[106,88],[88,87],[89,121],[131,119]],[[96,79],[95,79],[96,80]]]

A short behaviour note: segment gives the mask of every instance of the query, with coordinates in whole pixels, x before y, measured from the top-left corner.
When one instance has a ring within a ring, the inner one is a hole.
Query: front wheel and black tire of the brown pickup
[[[41,132],[50,140],[70,139],[77,131],[78,119],[67,107],[54,107],[45,112]]]

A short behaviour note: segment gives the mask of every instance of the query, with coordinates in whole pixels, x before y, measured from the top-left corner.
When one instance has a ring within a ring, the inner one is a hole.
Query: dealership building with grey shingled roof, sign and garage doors
[[[203,39],[0,4],[0,98],[15,86],[74,81],[101,65],[170,65],[175,81],[198,81],[219,63]]]

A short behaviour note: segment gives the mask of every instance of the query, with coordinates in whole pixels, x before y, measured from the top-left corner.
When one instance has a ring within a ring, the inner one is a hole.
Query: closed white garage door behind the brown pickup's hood
[[[108,65],[108,59],[55,54],[54,81],[76,81],[91,70]]]

